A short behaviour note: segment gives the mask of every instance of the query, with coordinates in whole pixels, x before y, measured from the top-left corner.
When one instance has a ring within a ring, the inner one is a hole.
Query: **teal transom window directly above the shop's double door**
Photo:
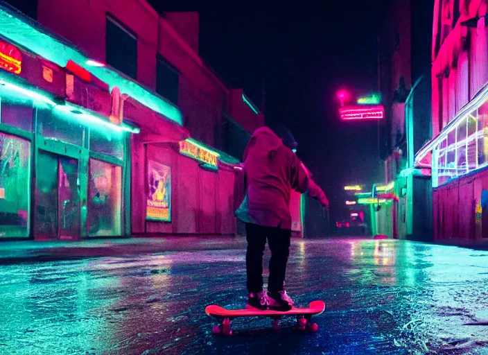
[[[84,128],[73,114],[58,110],[37,110],[37,133],[48,139],[83,146]]]

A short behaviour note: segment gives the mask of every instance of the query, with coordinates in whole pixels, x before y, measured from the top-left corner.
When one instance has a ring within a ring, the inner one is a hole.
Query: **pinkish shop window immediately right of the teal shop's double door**
[[[90,159],[88,235],[120,236],[122,230],[122,168]]]

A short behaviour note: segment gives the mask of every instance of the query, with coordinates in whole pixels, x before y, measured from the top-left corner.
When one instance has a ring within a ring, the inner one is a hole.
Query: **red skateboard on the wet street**
[[[234,318],[239,317],[270,317],[272,318],[272,327],[279,330],[279,320],[287,315],[297,316],[297,330],[310,330],[315,333],[319,329],[317,323],[310,322],[312,315],[319,315],[325,310],[325,303],[322,301],[313,301],[308,305],[308,308],[293,307],[290,311],[275,311],[266,310],[261,311],[253,307],[247,306],[246,309],[225,309],[216,304],[211,304],[205,308],[205,313],[211,318],[215,318],[220,325],[216,325],[212,331],[214,334],[224,334],[225,336],[232,335],[231,322]]]

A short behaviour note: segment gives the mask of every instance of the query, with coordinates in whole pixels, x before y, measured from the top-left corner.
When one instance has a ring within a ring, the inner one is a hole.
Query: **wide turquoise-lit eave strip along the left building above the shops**
[[[90,58],[77,51],[73,44],[54,35],[48,35],[48,31],[37,22],[28,17],[0,6],[0,35],[12,40],[26,49],[33,51],[60,67],[66,67],[68,60],[73,60],[76,64],[87,69],[94,76],[100,78],[105,83],[113,87],[119,87],[123,94],[128,94],[151,110],[159,112],[168,119],[182,125],[182,113],[164,98],[158,96],[150,89],[139,85],[133,80],[125,77],[122,73],[109,67],[94,67],[89,62]]]

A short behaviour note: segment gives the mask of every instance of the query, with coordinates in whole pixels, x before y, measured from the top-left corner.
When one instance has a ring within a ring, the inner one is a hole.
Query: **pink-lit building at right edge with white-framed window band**
[[[415,164],[432,169],[436,240],[488,237],[487,7],[481,0],[435,1],[433,139]]]

